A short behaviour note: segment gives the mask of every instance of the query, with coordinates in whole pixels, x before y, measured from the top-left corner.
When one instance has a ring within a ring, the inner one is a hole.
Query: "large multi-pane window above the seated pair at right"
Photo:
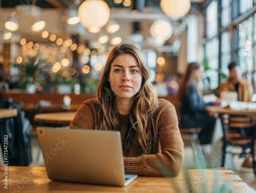
[[[219,5],[217,5],[219,4]],[[219,9],[219,23],[212,22],[214,18],[207,18],[213,7]],[[219,58],[219,68],[221,72],[228,75],[228,63],[235,61],[241,67],[243,77],[253,85],[253,92],[256,91],[256,12],[250,14],[251,10],[256,10],[255,0],[220,0],[212,1],[206,8],[206,46],[205,55],[209,59],[209,66],[215,69],[217,63],[215,56]],[[212,23],[209,23],[209,22]],[[215,26],[218,24],[218,26]],[[209,25],[212,25],[209,27]],[[214,34],[212,28],[219,29],[219,34]],[[215,44],[212,43],[212,41]],[[212,45],[220,45],[219,55]],[[219,78],[223,81],[223,78]]]

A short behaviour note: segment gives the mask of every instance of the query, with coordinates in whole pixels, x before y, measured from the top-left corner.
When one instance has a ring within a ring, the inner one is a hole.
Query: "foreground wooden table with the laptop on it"
[[[8,172],[4,175],[4,171]],[[183,170],[178,177],[137,177],[125,187],[92,185],[52,181],[48,179],[45,167],[0,166],[1,192],[189,192],[184,174],[188,172],[194,192],[201,192],[200,185],[206,185],[207,192],[217,188],[215,175],[219,175],[218,185],[229,182],[232,193],[256,192],[230,169]],[[8,190],[4,188],[8,176]],[[175,191],[177,190],[177,191]],[[203,191],[206,193],[205,191]]]

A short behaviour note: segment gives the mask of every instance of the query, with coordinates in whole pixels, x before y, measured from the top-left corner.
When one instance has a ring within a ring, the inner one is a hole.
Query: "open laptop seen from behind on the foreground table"
[[[137,175],[124,174],[118,131],[37,127],[51,180],[126,186]]]

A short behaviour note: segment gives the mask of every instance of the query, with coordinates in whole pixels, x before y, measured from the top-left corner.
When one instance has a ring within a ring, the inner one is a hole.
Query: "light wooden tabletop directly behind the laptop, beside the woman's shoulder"
[[[75,114],[76,112],[41,113],[35,115],[34,119],[37,122],[69,125]]]

